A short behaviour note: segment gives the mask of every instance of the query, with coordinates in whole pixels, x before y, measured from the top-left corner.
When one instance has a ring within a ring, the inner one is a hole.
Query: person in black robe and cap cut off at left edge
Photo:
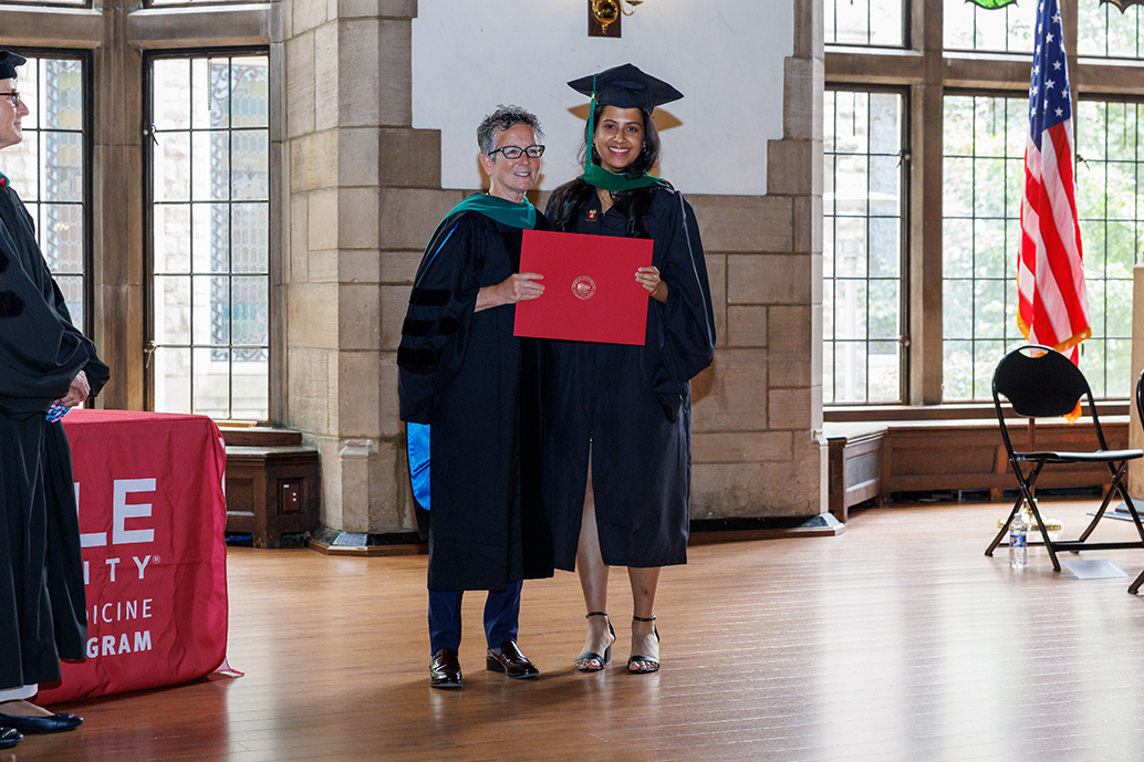
[[[23,140],[24,58],[0,50],[0,149]],[[30,701],[85,658],[87,605],[71,452],[59,418],[108,381],[72,325],[31,215],[0,174],[0,748],[84,722]]]

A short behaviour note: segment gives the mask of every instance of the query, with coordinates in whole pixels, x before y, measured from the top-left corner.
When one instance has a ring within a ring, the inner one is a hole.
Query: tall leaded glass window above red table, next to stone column
[[[151,64],[154,407],[269,416],[264,55]]]

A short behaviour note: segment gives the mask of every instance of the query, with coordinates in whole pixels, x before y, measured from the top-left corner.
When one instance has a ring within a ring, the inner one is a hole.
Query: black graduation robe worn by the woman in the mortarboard
[[[648,300],[644,346],[540,343],[543,499],[557,569],[575,567],[589,454],[604,563],[686,563],[689,382],[712,363],[715,324],[694,213],[666,182],[652,192],[643,225],[668,296]],[[620,211],[599,209],[591,193],[572,232],[622,237]]]

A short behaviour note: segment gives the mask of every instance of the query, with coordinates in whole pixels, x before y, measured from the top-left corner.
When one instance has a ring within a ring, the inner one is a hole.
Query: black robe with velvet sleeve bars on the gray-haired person
[[[547,229],[537,216],[538,229]],[[415,427],[428,427],[428,494],[421,497],[429,510],[419,505],[418,514],[429,535],[429,589],[502,590],[553,574],[539,463],[529,462],[539,457],[539,434],[527,438],[538,431],[535,373],[522,378],[522,354],[534,352],[534,342],[513,335],[511,304],[474,312],[480,287],[518,270],[521,238],[521,229],[478,212],[451,214],[434,233],[410,296],[398,394],[411,439]],[[534,368],[534,359],[526,365]],[[523,453],[522,395],[532,416]],[[418,497],[416,481],[414,487]]]

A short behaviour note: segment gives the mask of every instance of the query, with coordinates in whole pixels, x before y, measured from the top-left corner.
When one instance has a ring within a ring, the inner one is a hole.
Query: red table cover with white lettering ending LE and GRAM
[[[194,680],[227,654],[227,451],[202,415],[73,410],[88,659],[39,704]]]

